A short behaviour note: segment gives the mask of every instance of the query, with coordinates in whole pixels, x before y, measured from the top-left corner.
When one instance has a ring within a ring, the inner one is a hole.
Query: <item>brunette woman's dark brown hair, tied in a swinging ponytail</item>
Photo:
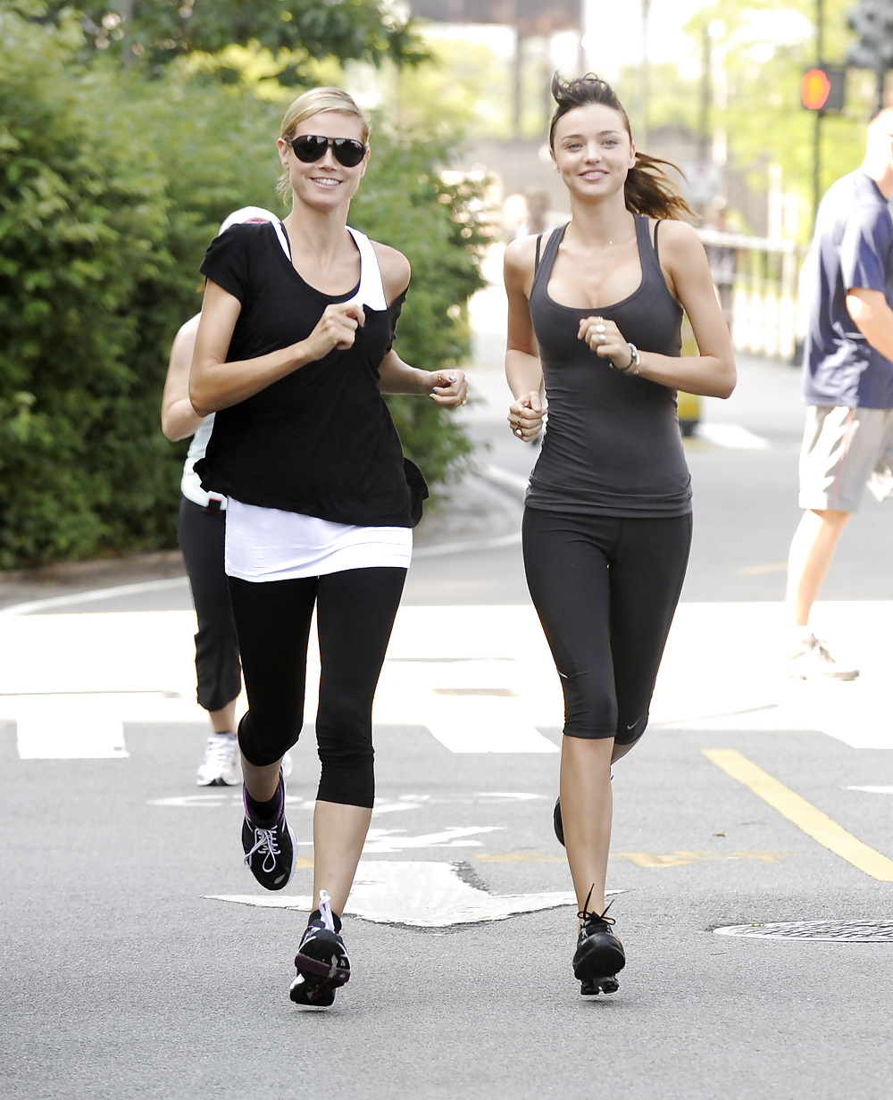
[[[573,111],[577,107],[587,107],[589,103],[600,103],[617,111],[624,120],[630,143],[632,142],[632,130],[624,105],[610,85],[594,73],[587,73],[573,80],[563,80],[555,73],[552,77],[552,98],[558,106],[549,128],[551,148],[555,147],[555,128],[559,119],[564,118],[569,111]],[[636,153],[636,164],[629,169],[624,185],[624,197],[628,210],[646,215],[648,218],[681,218],[683,215],[694,213],[676,190],[673,180],[664,170],[664,165],[682,175],[671,161],[664,161],[659,156],[649,156],[647,153]]]

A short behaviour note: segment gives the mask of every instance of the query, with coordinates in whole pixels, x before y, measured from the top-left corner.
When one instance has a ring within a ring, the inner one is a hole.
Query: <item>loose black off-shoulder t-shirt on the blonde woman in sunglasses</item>
[[[334,301],[307,284],[285,255],[273,226],[238,224],[211,242],[201,272],[242,309],[227,362],[255,359],[306,340]],[[353,346],[333,349],[252,397],[220,409],[202,487],[244,504],[340,524],[411,527],[427,496],[421,474],[404,464],[397,429],[378,388],[404,301],[364,306]],[[416,476],[417,475],[417,476]],[[410,494],[407,476],[414,481]]]

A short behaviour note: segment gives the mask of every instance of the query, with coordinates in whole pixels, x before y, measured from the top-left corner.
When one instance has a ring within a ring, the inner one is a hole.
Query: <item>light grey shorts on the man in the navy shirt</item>
[[[811,405],[800,452],[800,506],[857,512],[868,485],[893,495],[893,409]]]

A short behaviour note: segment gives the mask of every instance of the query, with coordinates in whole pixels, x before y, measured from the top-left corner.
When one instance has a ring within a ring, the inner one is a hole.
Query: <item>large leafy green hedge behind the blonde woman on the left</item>
[[[185,453],[158,428],[170,341],[223,217],[277,201],[282,107],[175,66],[78,67],[74,30],[3,8],[0,32],[0,568],[169,547]],[[398,351],[455,364],[476,196],[443,187],[440,151],[374,141],[352,222],[414,265]],[[433,482],[461,464],[449,415],[394,409]]]

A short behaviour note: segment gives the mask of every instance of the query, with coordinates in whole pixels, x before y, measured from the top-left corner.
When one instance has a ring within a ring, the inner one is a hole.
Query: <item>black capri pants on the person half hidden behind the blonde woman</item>
[[[239,642],[223,572],[225,515],[180,498],[177,535],[198,618],[197,697],[206,711],[222,711],[242,691]]]

